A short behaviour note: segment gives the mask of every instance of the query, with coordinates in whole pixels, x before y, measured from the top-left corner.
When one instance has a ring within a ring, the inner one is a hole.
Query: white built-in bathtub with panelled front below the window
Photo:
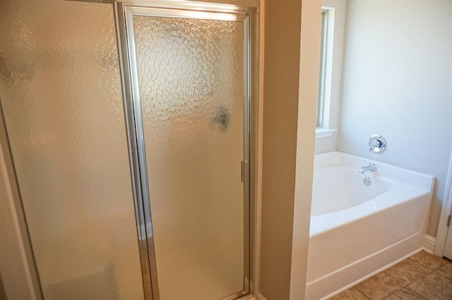
[[[362,165],[376,163],[367,172]],[[306,299],[328,297],[422,249],[434,177],[340,152],[316,155]]]

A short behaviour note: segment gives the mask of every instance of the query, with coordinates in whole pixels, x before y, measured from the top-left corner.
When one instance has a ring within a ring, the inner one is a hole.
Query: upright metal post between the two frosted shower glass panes
[[[141,272],[143,275],[143,289],[145,299],[159,299],[157,285],[157,268],[155,266],[155,253],[153,249],[152,222],[148,196],[148,182],[145,166],[143,127],[139,99],[133,91],[132,80],[136,79],[136,70],[133,73],[133,62],[130,55],[134,51],[127,36],[128,18],[123,3],[114,3],[114,18],[117,28],[119,65],[121,68],[121,84],[123,86],[124,116],[129,146],[129,159],[131,164],[131,180],[133,182],[133,199],[136,213],[138,233],[138,246],[141,258]],[[130,19],[129,19],[130,20]],[[130,25],[133,26],[131,20]],[[136,62],[135,64],[136,65]]]

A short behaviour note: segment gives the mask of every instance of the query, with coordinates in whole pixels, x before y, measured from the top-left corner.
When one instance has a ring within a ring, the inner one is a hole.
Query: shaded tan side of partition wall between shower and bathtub
[[[269,300],[290,299],[291,293],[301,11],[301,1],[285,1],[283,5],[275,0],[265,2],[260,289]],[[306,108],[309,114],[314,106]],[[311,114],[315,114],[315,108]],[[309,126],[307,161],[311,163],[314,123]],[[309,177],[311,173],[308,171]],[[309,191],[300,194],[308,195],[304,197],[308,204]],[[299,224],[305,225],[302,229],[304,240],[299,242],[307,248],[309,218],[302,216],[302,219],[304,222],[302,220]],[[306,253],[300,254],[299,261],[302,264],[300,268],[303,268]],[[303,270],[301,273],[304,276]],[[298,285],[304,292],[304,281]]]

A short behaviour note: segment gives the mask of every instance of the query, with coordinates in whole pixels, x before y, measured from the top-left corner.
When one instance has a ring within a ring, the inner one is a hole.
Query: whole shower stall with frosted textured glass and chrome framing
[[[253,292],[257,18],[1,1],[0,142],[39,299]]]

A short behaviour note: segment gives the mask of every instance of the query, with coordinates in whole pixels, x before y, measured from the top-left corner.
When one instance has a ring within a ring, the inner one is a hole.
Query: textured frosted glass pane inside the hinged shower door
[[[244,289],[241,22],[134,16],[160,297]]]

